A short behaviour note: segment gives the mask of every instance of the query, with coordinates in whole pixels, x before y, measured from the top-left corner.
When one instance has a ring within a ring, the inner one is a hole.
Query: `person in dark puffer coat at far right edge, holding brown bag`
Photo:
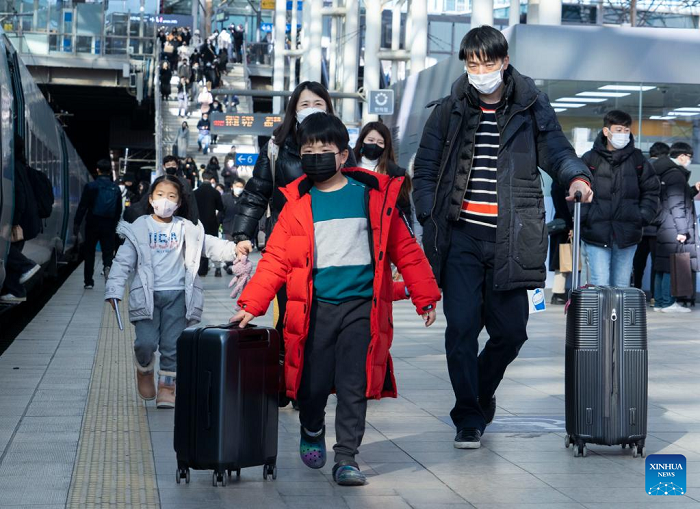
[[[688,165],[693,159],[693,148],[687,143],[671,145],[668,156],[654,162],[654,169],[661,180],[661,208],[654,221],[656,233],[656,261],[654,271],[654,311],[687,313],[690,309],[679,306],[671,297],[671,255],[690,253],[690,267],[698,271],[697,216],[693,198],[700,191],[700,182],[688,185]]]

